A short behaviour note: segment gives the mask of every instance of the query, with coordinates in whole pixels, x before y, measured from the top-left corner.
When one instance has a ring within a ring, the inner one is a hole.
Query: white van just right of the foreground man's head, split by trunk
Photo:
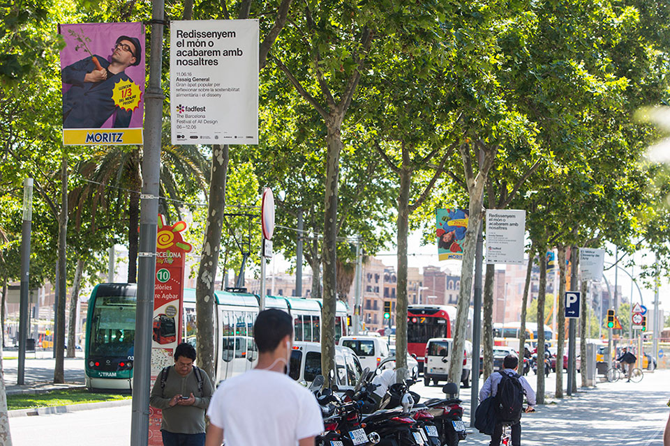
[[[353,389],[363,373],[358,358],[347,347],[335,346],[335,378],[338,390]],[[321,374],[321,344],[297,341],[293,343],[288,375],[308,386]]]

